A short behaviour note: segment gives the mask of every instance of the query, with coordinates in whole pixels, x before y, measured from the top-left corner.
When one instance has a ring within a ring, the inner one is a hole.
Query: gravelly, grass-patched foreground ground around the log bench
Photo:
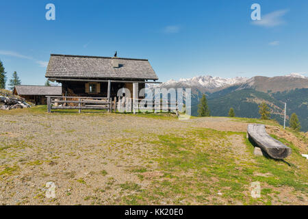
[[[253,155],[249,120],[46,110],[0,111],[0,205],[308,204],[307,140],[270,121],[284,162]]]

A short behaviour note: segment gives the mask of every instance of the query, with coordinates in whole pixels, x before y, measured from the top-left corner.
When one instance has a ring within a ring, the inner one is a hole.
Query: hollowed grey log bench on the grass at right
[[[262,151],[274,159],[283,159],[291,154],[291,149],[266,133],[265,125],[249,124],[247,137],[251,138]]]

